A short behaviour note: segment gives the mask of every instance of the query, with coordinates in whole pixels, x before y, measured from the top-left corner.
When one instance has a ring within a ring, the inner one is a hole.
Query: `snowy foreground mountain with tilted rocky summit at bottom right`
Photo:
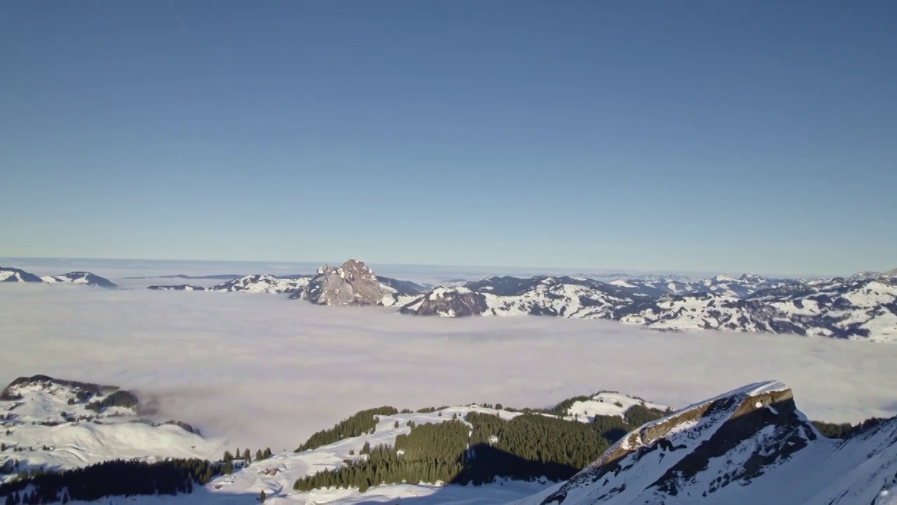
[[[895,474],[897,418],[825,439],[773,381],[650,421],[566,483],[516,503],[852,505],[887,497]]]

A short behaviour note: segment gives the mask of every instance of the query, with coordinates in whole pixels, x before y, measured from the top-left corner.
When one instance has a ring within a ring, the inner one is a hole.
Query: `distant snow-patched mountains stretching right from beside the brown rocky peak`
[[[745,274],[683,283],[571,277],[492,277],[433,288],[410,315],[555,315],[612,319],[658,330],[793,332],[897,341],[897,281],[771,280]]]

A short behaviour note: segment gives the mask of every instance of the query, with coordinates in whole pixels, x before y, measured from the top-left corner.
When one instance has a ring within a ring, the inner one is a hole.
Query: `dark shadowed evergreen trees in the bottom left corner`
[[[6,505],[36,505],[106,496],[174,495],[193,492],[194,483],[208,483],[220,471],[219,465],[203,459],[105,461],[63,472],[32,473],[0,484],[0,496],[6,497]]]

